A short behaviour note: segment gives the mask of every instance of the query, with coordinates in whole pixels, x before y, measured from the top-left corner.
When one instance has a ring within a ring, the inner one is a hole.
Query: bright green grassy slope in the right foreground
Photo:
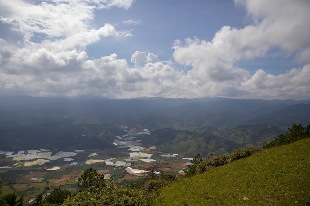
[[[310,205],[310,138],[183,179],[160,193],[154,205]]]

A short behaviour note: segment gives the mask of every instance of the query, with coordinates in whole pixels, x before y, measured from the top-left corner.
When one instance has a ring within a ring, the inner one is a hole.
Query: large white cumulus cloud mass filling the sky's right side
[[[266,74],[262,69],[251,76],[234,64],[239,60],[265,57],[274,47],[279,48],[283,55],[295,56],[295,61],[309,63],[310,28],[307,25],[310,3],[237,0],[236,4],[246,8],[252,24],[244,28],[223,26],[211,42],[196,37],[184,42],[176,40],[173,46],[175,60],[192,67],[189,77],[205,85],[213,82],[218,88],[215,95],[251,98],[300,95],[309,98],[309,89],[295,82],[301,78],[300,74],[308,70],[308,64],[278,76]],[[310,82],[309,75],[302,79],[306,79],[303,82]],[[234,88],[238,92],[228,95],[225,88]]]

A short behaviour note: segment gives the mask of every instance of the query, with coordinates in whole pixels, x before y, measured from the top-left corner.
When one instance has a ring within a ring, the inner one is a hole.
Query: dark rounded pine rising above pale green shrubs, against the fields
[[[81,188],[80,192],[92,192],[94,188],[105,187],[104,176],[98,174],[96,170],[90,167],[79,177],[78,186]]]

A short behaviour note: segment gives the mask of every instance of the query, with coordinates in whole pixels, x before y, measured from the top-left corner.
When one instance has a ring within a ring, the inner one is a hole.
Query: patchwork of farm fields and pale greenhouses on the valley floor
[[[137,138],[126,141],[126,144],[130,145],[135,139]],[[118,142],[124,144],[121,141]],[[146,170],[149,160],[151,160],[158,163],[159,171],[181,175],[182,173],[179,173],[179,171],[186,168],[186,162],[190,162],[183,159],[184,157],[162,153],[157,151],[155,147],[141,143],[136,148],[142,148],[143,150],[128,151],[128,148],[117,147],[114,149],[88,149],[67,152],[44,150],[41,153],[23,154],[14,157],[19,161],[12,160],[12,158],[2,158],[0,160],[1,166],[19,165],[18,168],[0,169],[2,191],[3,194],[15,191],[18,194],[23,194],[25,201],[29,201],[40,193],[46,195],[54,187],[67,189],[72,193],[78,192],[77,180],[89,167],[97,170],[99,174],[109,174],[107,177],[111,176],[114,180],[120,180],[120,184],[130,184],[135,183],[141,174],[127,172],[125,169],[128,165],[130,165],[130,168],[142,171]],[[29,152],[32,152],[32,150]],[[40,157],[40,159],[25,161],[25,158],[30,159],[33,157]]]

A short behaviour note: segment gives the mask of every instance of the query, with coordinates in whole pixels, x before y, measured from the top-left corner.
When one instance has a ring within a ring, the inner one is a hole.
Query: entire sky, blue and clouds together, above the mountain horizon
[[[0,0],[0,96],[310,99],[309,0]]]

